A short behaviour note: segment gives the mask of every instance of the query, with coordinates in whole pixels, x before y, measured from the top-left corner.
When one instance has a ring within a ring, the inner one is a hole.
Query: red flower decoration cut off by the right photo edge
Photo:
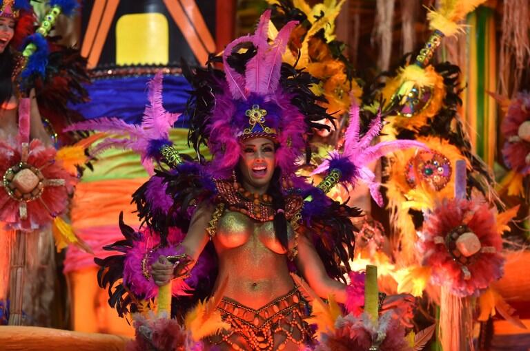
[[[530,93],[519,93],[511,100],[500,130],[506,142],[502,156],[508,167],[530,174]]]

